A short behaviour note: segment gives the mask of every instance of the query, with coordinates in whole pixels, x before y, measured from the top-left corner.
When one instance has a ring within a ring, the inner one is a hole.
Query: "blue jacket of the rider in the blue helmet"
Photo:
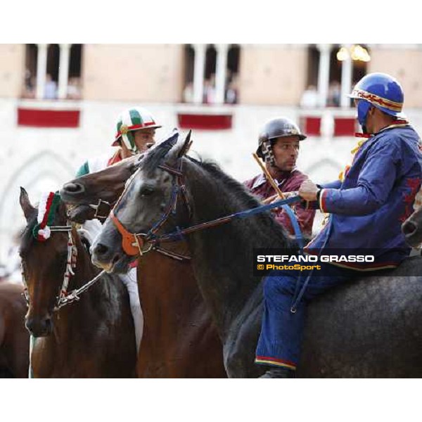
[[[310,204],[330,217],[305,250],[347,250],[350,255],[366,250],[375,262],[338,264],[364,271],[397,267],[408,257],[411,248],[401,225],[413,212],[421,186],[418,146],[419,136],[409,124],[392,124],[365,141],[344,181],[321,185],[319,203]]]

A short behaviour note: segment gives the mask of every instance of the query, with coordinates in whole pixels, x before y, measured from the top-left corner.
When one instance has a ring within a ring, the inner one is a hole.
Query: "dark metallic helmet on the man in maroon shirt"
[[[274,155],[271,146],[273,146],[275,139],[283,136],[298,136],[299,141],[303,141],[307,137],[300,132],[298,125],[293,120],[288,119],[288,117],[271,119],[264,124],[258,138],[258,157],[274,165]]]

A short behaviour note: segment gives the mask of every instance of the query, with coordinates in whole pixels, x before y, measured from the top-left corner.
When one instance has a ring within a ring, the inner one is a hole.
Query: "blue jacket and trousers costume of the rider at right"
[[[295,369],[307,301],[350,281],[362,274],[360,271],[394,268],[409,256],[401,225],[413,211],[421,186],[422,155],[418,144],[419,136],[407,122],[394,122],[362,144],[343,181],[321,186],[319,202],[310,205],[331,215],[305,252],[319,253],[329,248],[357,255],[370,248],[375,262],[359,266],[325,264],[317,274],[274,271],[267,276],[257,364]],[[302,301],[297,302],[295,294],[305,280]],[[290,312],[293,303],[295,313]]]

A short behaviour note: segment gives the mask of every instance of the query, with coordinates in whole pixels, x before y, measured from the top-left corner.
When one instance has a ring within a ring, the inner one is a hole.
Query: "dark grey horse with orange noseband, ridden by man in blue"
[[[178,143],[169,152],[162,143],[142,160],[114,210],[131,233],[147,234],[157,224],[162,207],[174,199],[177,179],[186,186],[187,200],[177,197],[175,215],[156,236],[259,205],[216,165],[183,156],[184,148]],[[266,368],[255,365],[254,359],[262,281],[252,274],[252,251],[293,245],[267,213],[195,231],[186,238],[201,293],[222,338],[226,371],[231,377],[260,376]],[[148,238],[143,242],[147,249]],[[94,243],[93,260],[112,270],[127,260],[110,218]],[[411,258],[395,271],[362,276],[309,303],[298,376],[421,377],[421,271],[421,258]]]

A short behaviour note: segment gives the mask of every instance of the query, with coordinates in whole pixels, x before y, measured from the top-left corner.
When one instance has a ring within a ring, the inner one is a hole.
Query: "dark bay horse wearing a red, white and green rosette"
[[[76,229],[34,238],[37,209],[21,188],[20,205],[27,226],[20,243],[29,309],[25,324],[34,336],[32,370],[36,378],[129,378],[135,376],[136,345],[129,297],[122,282],[105,274],[80,300],[56,310],[71,243],[76,262],[69,290],[98,274]],[[68,226],[59,203],[53,226]],[[70,234],[70,236],[69,236]]]

